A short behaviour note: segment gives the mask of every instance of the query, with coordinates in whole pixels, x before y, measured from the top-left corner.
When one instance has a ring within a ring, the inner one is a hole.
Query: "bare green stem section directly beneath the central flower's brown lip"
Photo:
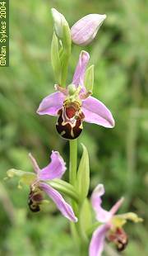
[[[70,145],[69,181],[74,186],[76,181],[76,169],[77,169],[77,139],[69,140],[69,145]]]

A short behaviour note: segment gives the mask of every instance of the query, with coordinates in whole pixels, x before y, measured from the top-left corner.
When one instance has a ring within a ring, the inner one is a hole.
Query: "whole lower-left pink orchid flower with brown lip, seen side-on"
[[[31,163],[33,165],[35,173],[23,172],[21,170],[11,169],[7,171],[7,176],[12,178],[14,175],[21,177],[21,183],[30,185],[30,194],[28,205],[31,211],[39,211],[40,205],[44,202],[44,193],[50,197],[53,202],[61,211],[62,215],[68,220],[77,221],[77,218],[70,206],[62,197],[62,195],[53,187],[51,187],[48,181],[54,178],[62,178],[63,173],[66,171],[65,163],[58,153],[58,151],[52,151],[50,156],[51,162],[44,168],[40,169],[35,158],[32,154],[29,154]]]

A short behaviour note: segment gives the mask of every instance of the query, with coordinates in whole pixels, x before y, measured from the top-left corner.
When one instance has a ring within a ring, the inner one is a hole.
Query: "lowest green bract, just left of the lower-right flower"
[[[90,209],[90,202],[86,198],[81,206],[80,216],[79,216],[79,223],[81,229],[81,235],[84,239],[87,239],[86,231],[90,229],[92,225],[92,216],[91,216],[91,209]]]

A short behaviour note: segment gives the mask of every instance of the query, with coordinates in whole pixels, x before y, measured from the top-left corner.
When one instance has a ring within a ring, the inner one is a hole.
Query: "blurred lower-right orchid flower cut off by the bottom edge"
[[[101,197],[104,195],[104,185],[99,184],[95,187],[91,196],[92,206],[95,210],[96,220],[99,223],[99,227],[95,230],[90,241],[89,256],[100,256],[104,250],[105,238],[109,242],[113,242],[118,251],[125,249],[127,245],[127,234],[123,230],[123,225],[127,220],[134,222],[142,221],[141,218],[136,216],[133,212],[128,212],[123,215],[115,215],[119,207],[123,204],[123,197],[117,201],[110,211],[105,211],[101,207]]]

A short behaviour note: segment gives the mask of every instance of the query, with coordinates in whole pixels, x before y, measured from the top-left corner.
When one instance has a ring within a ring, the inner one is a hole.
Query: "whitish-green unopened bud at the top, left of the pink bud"
[[[54,29],[58,36],[58,38],[62,39],[63,37],[63,26],[67,26],[69,28],[67,20],[62,15],[62,13],[58,12],[56,9],[51,9],[53,21],[54,21]]]

